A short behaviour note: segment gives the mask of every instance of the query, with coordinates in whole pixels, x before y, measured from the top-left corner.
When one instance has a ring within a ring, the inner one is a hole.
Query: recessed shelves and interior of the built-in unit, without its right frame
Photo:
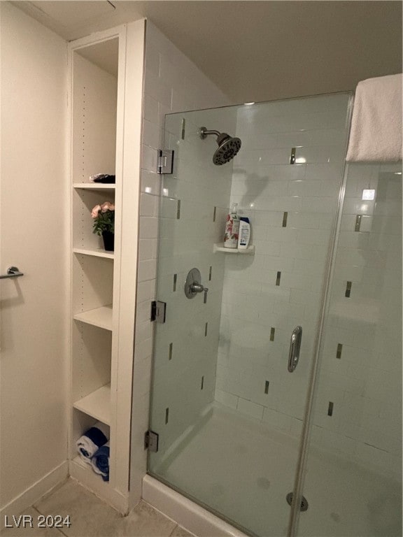
[[[116,195],[121,185],[94,183],[90,176],[115,174],[118,78],[92,60],[108,50],[118,71],[118,41],[115,37],[101,45],[90,44],[72,55],[72,461],[77,461],[76,441],[87,427],[97,422],[111,426],[111,380],[118,359],[113,344],[113,303],[118,289],[115,257],[120,251],[119,245],[115,252],[104,250],[102,238],[93,233],[91,212],[104,201],[115,203],[119,227]],[[112,447],[113,438],[110,443]],[[108,486],[99,475],[92,475],[91,465],[86,466],[82,469],[99,490]]]

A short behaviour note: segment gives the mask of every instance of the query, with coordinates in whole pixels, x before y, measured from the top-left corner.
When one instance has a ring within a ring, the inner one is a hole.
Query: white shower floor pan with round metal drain
[[[298,439],[214,403],[208,420],[154,475],[260,537],[287,535]],[[312,468],[314,470],[312,471]],[[311,449],[299,536],[400,536],[397,483]],[[312,474],[312,475],[311,475]]]

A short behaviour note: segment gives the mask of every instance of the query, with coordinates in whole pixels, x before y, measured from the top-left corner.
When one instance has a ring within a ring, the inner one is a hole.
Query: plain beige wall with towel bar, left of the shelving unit
[[[38,481],[52,486],[66,467],[69,191],[66,43],[0,4],[0,271],[24,272],[0,282],[3,508],[31,487],[40,493]]]

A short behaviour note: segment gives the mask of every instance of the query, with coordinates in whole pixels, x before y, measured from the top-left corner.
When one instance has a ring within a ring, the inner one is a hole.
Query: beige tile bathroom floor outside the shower
[[[33,528],[6,528],[1,537],[192,537],[185,529],[141,501],[127,517],[72,479],[43,496],[23,515],[31,515]],[[37,527],[39,515],[70,515],[71,526]],[[10,518],[10,517],[9,517]]]

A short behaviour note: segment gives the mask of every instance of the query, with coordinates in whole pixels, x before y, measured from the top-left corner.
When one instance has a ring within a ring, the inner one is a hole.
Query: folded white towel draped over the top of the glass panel
[[[402,160],[402,74],[358,83],[346,160]]]

